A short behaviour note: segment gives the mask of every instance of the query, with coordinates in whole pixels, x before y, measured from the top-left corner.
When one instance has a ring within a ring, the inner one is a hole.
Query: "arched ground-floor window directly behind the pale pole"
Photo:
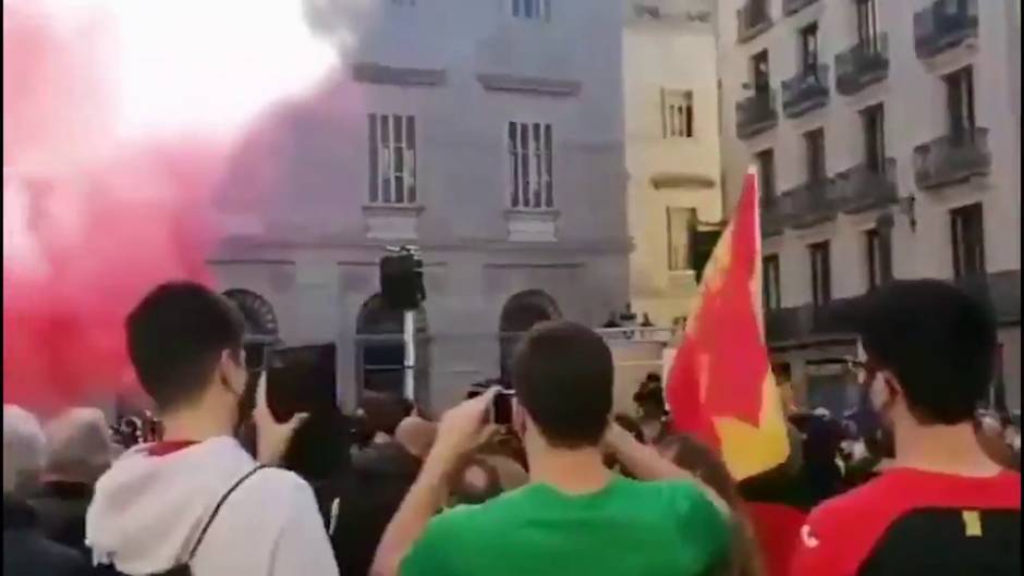
[[[402,336],[402,310],[387,305],[380,294],[370,296],[356,320],[356,366],[359,394],[370,391],[402,395],[405,343]],[[428,393],[429,338],[427,315],[416,312],[416,393],[417,402]]]

